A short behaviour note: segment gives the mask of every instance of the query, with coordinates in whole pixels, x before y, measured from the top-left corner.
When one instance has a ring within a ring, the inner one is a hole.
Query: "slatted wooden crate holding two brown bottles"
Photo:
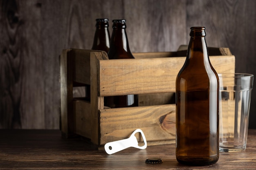
[[[125,139],[137,128],[148,145],[175,143],[175,79],[186,51],[134,53],[136,59],[108,60],[104,51],[63,50],[60,57],[61,130],[102,146]],[[186,49],[186,47],[185,47]],[[218,73],[235,72],[227,48],[209,48]],[[74,86],[91,85],[91,102],[73,97]],[[139,94],[139,106],[104,108],[104,96]],[[150,106],[149,106],[150,105]]]

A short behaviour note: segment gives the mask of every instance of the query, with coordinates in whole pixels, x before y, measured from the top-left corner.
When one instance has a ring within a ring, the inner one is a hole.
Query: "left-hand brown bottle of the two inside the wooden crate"
[[[108,31],[108,18],[96,19],[96,31],[94,33],[94,40],[92,50],[106,51],[108,53],[110,47],[110,33]],[[85,99],[90,101],[91,87],[85,86]]]

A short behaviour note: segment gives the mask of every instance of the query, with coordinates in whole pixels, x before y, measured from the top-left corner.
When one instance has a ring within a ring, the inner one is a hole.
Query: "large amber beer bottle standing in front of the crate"
[[[176,78],[176,159],[211,165],[219,159],[219,78],[204,27],[191,27],[186,61]]]

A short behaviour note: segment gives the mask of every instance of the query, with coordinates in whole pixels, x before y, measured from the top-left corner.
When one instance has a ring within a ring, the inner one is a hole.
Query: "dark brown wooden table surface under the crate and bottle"
[[[146,164],[147,157],[162,158],[162,164]],[[249,129],[244,152],[221,153],[211,166],[184,166],[175,158],[175,144],[128,148],[112,155],[97,150],[81,138],[63,139],[59,130],[0,130],[0,169],[256,169],[256,129]]]

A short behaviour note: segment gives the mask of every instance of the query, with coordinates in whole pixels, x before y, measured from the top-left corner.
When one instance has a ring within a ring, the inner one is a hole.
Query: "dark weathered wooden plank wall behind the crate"
[[[132,52],[176,51],[191,26],[206,26],[208,46],[228,47],[236,72],[256,75],[255,9],[255,0],[1,0],[0,128],[59,128],[58,56],[90,49],[96,18],[126,19]],[[250,128],[255,102],[256,90]]]

